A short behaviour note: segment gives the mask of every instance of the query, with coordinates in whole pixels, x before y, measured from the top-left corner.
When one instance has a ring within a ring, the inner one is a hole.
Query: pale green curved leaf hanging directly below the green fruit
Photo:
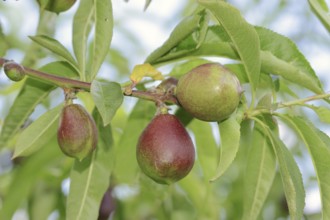
[[[220,160],[215,175],[210,181],[215,181],[229,168],[234,161],[239,149],[240,124],[236,120],[236,114],[219,123],[221,147]]]

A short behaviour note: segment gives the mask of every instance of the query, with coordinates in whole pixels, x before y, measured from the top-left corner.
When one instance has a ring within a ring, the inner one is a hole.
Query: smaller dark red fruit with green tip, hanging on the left
[[[58,144],[63,153],[82,160],[96,148],[97,139],[95,121],[84,107],[66,105],[57,131]]]

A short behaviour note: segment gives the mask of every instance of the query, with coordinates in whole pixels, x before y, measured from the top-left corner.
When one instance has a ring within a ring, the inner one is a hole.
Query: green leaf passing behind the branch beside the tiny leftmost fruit
[[[66,62],[49,63],[40,70],[55,75],[65,74],[66,77],[76,75],[75,70]],[[55,88],[32,78],[25,81],[4,121],[0,134],[0,148],[6,147],[8,140],[20,131],[35,107]]]

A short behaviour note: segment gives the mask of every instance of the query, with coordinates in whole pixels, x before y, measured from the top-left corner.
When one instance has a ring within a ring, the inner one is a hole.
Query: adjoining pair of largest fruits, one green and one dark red
[[[200,65],[183,75],[174,93],[193,117],[221,122],[237,108],[242,89],[237,77],[217,63]],[[195,148],[179,119],[167,113],[154,117],[137,144],[141,170],[158,183],[170,184],[193,167]]]

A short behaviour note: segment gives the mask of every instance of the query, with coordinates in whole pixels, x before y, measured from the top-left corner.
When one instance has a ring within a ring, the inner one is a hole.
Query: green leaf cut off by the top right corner
[[[327,3],[324,0],[308,0],[308,3],[323,26],[330,32],[330,15]]]

